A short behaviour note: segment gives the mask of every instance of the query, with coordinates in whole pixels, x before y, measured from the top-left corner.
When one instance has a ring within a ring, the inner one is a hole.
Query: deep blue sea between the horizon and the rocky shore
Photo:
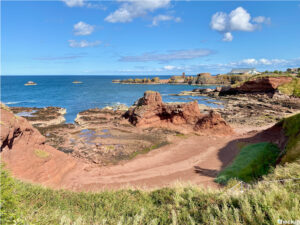
[[[129,76],[2,76],[1,101],[8,106],[46,107],[58,106],[67,109],[67,122],[74,122],[77,113],[90,108],[125,104],[132,105],[147,90],[161,93],[165,102],[188,102],[218,107],[206,97],[171,96],[181,91],[196,88],[191,85],[141,85],[114,84],[114,79],[128,79]],[[143,78],[143,77],[141,77]],[[161,76],[162,79],[168,77]],[[82,84],[73,84],[78,80]],[[28,81],[36,86],[24,86]],[[213,88],[214,86],[202,86]]]

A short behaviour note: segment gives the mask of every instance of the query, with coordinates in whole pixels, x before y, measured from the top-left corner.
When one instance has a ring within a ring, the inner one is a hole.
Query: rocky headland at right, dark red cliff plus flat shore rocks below
[[[178,95],[206,96],[223,103],[215,111],[233,126],[267,126],[300,110],[300,82],[292,77],[258,77],[236,86],[197,88]],[[207,111],[207,110],[205,110]]]

